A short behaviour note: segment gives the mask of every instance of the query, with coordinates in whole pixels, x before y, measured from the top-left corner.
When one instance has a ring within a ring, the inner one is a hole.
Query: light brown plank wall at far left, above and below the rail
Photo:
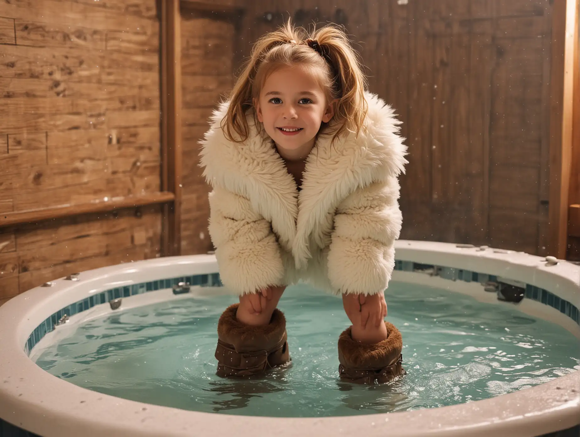
[[[157,192],[158,57],[155,0],[1,2],[0,213]],[[0,228],[0,304],[160,232],[158,206]]]

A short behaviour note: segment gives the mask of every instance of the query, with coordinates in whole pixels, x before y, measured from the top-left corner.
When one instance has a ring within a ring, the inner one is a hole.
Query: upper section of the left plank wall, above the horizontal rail
[[[7,176],[13,181],[0,186],[0,197],[12,200],[14,210],[30,204],[49,206],[55,200],[53,192],[63,203],[79,196],[88,199],[91,190],[93,198],[159,190],[157,151],[129,162],[129,158],[107,154],[104,148],[111,138],[119,144],[116,131],[142,128],[147,136],[153,130],[157,139],[139,146],[151,149],[155,144],[158,150],[158,20],[145,13],[155,10],[154,0],[142,3],[148,5],[139,8],[133,2],[127,6],[128,17],[122,21],[119,5],[107,8],[47,0],[28,15],[23,14],[21,2],[0,6],[0,15],[12,14],[16,41],[20,41],[7,46],[8,62],[0,70],[0,138],[3,134],[8,138],[8,153],[0,155],[0,165],[10,168]],[[49,9],[56,4],[68,12],[53,15]],[[39,11],[46,13],[37,15]],[[73,17],[84,19],[73,23]],[[82,26],[89,22],[90,28]],[[127,50],[130,56],[125,55]],[[83,135],[99,145],[73,143],[67,148],[81,156],[63,159],[66,152],[57,141],[73,131],[86,132]],[[18,147],[15,135],[44,138],[45,150],[39,150],[39,140],[34,150],[30,145]],[[76,184],[84,189],[78,190]],[[15,189],[20,190],[19,196]]]

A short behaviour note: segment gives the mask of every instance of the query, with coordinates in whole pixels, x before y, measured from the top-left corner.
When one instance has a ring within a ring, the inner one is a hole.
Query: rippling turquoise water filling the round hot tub
[[[483,290],[481,291],[484,292]],[[211,413],[320,417],[454,405],[541,384],[580,369],[568,331],[437,288],[391,282],[388,320],[403,334],[408,374],[364,387],[338,381],[337,341],[349,325],[340,298],[285,292],[292,364],[259,380],[216,377],[216,324],[233,297],[188,298],[78,326],[37,364],[120,398]]]

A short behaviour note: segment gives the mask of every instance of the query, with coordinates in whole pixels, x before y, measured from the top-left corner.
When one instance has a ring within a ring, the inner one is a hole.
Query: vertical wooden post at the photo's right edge
[[[548,254],[561,259],[568,235],[576,10],[576,0],[553,2]]]

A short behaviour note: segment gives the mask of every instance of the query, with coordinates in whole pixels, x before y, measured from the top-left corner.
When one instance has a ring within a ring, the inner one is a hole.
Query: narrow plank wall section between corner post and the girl
[[[238,13],[205,3],[182,6],[183,201],[182,255],[213,246],[208,234],[208,185],[199,167],[199,141],[212,110],[233,87]]]

